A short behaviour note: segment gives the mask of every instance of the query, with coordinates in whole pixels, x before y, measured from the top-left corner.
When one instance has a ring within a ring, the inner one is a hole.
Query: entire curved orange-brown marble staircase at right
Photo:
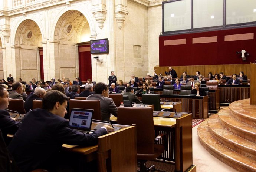
[[[221,109],[200,124],[197,134],[220,161],[241,172],[256,172],[256,106],[250,99]]]

